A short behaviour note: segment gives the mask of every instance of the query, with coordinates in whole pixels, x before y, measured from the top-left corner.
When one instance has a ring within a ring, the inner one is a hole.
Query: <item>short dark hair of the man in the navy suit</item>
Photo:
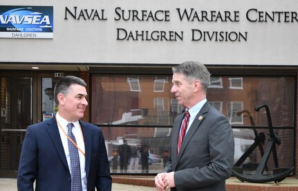
[[[55,103],[58,105],[59,101],[57,99],[57,95],[59,93],[67,94],[69,87],[73,84],[78,84],[80,86],[86,87],[87,84],[83,79],[80,79],[79,77],[73,77],[73,76],[66,76],[60,78],[54,88],[54,97],[55,97]]]

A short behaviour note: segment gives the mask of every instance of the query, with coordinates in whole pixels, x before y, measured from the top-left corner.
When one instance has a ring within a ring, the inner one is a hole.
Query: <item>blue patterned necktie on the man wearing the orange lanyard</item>
[[[74,143],[75,136],[73,135],[73,123],[68,123],[68,137],[70,137]],[[68,151],[71,156],[71,191],[82,191],[82,179],[81,179],[81,168],[80,168],[80,157],[79,150],[75,145],[68,139]]]

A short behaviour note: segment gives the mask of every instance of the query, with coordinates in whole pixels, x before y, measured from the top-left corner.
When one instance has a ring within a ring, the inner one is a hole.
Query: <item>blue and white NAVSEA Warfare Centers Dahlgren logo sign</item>
[[[0,38],[53,39],[53,6],[0,6]]]

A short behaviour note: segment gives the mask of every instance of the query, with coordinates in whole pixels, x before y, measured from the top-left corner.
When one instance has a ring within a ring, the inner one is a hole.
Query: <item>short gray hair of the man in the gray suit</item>
[[[198,61],[185,61],[178,66],[171,68],[173,73],[184,74],[187,81],[191,82],[198,79],[201,82],[202,88],[207,92],[207,86],[210,81],[210,73],[207,68]]]

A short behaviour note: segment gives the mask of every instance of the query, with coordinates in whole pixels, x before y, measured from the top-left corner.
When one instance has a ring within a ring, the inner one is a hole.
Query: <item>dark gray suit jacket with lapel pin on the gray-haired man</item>
[[[169,160],[164,172],[174,171],[171,190],[225,190],[232,172],[234,138],[227,119],[206,102],[183,139],[177,156],[177,141],[184,113],[174,121]]]

